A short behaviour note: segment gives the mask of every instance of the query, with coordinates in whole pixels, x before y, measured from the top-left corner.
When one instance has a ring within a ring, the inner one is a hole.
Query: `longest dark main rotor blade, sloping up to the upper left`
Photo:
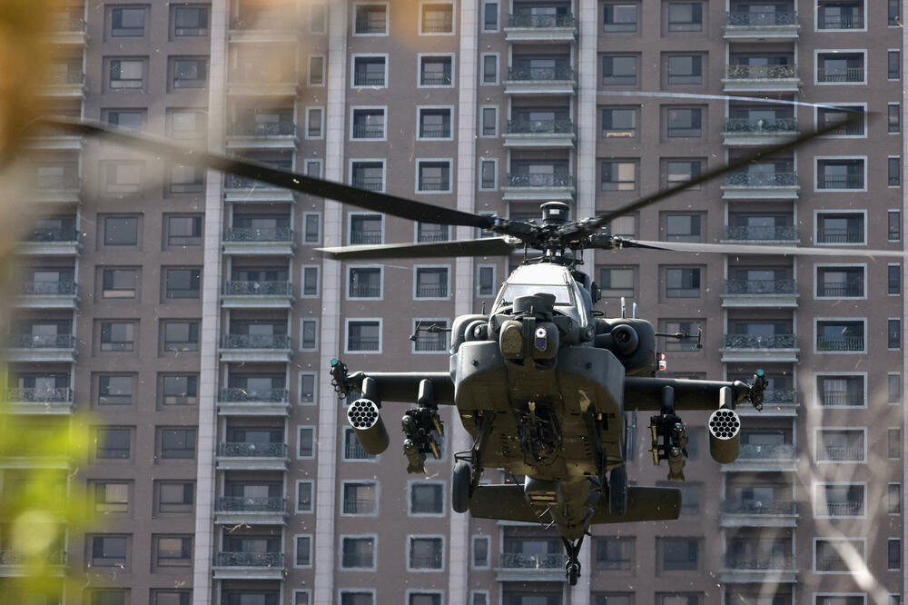
[[[366,210],[391,214],[400,218],[410,219],[411,221],[479,227],[480,229],[488,229],[498,221],[491,216],[464,213],[431,203],[416,202],[404,197],[389,195],[388,193],[365,191],[350,185],[317,179],[236,156],[193,150],[148,134],[127,134],[98,123],[73,118],[40,118],[26,126],[25,132],[27,133],[28,130],[38,124],[53,125],[73,134],[98,136],[114,143],[124,144],[151,154],[163,156],[170,162],[202,166],[203,168],[220,170],[224,173],[237,174],[262,183],[269,183],[300,193],[327,197],[331,200],[350,203]]]

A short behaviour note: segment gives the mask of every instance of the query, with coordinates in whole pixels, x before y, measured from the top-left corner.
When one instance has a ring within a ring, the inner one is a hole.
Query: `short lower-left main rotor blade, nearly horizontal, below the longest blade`
[[[507,256],[520,246],[504,237],[437,243],[383,243],[372,246],[316,248],[341,261],[370,261],[386,258],[437,258],[444,256]]]

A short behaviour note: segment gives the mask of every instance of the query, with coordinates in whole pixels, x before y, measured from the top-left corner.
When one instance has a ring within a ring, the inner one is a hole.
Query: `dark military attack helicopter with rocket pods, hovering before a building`
[[[856,114],[845,123],[863,118],[864,114]],[[166,155],[172,161],[251,177],[376,212],[498,233],[498,237],[467,241],[322,249],[339,260],[507,256],[522,248],[525,261],[502,284],[491,312],[463,315],[453,322],[448,372],[350,372],[335,359],[331,360],[331,377],[341,398],[354,399],[347,407],[347,418],[363,449],[372,454],[385,451],[390,443],[380,415],[382,402],[415,402],[416,407],[406,411],[401,422],[410,472],[423,471],[427,456],[439,457],[436,436],[444,432],[439,406],[457,406],[459,420],[474,441],[469,450],[454,454],[453,510],[469,511],[479,518],[554,524],[568,554],[566,575],[571,585],[577,583],[577,555],[591,525],[671,520],[680,512],[679,490],[628,487],[626,414],[655,412],[649,424],[653,461],[667,461],[668,479],[683,481],[687,431],[678,412],[713,410],[707,422],[710,453],[718,462],[731,462],[737,457],[741,430],[735,407],[746,402],[762,408],[767,384],[761,370],[749,384],[656,378],[660,369],[656,338],[698,336],[661,334],[646,320],[627,318],[624,313],[606,317],[597,311],[599,288],[578,268],[583,251],[651,248],[766,253],[758,245],[627,240],[607,233],[604,227],[618,216],[843,126],[833,124],[767,146],[758,154],[597,217],[572,221],[568,204],[544,203],[541,224],[536,224],[362,191],[100,124],[67,118],[48,118],[38,124],[100,136]],[[526,256],[529,250],[541,254],[530,258]],[[778,246],[772,253],[903,254]],[[439,331],[438,326],[434,330]],[[480,484],[488,468],[523,475],[525,480],[522,485]]]

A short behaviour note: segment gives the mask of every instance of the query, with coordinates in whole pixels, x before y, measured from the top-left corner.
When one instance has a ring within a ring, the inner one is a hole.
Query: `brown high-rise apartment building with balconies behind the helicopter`
[[[903,266],[775,246],[903,249],[898,0],[92,2],[54,15],[48,111],[469,212],[617,208],[865,110],[863,123],[624,216],[642,240],[765,255],[587,253],[666,340],[666,375],[746,379],[738,461],[692,440],[679,521],[596,526],[580,582],[554,531],[469,519],[440,461],[363,451],[331,387],[444,371],[444,333],[522,257],[339,263],[322,245],[478,236],[48,131],[20,246],[7,395],[35,431],[90,413],[69,531],[86,605],[899,605]],[[844,147],[842,146],[844,145]],[[41,216],[31,211],[40,211]],[[874,340],[873,334],[876,334]],[[630,404],[630,402],[628,402]],[[663,484],[627,414],[632,481]],[[452,422],[453,421],[453,422]],[[489,470],[485,480],[513,481]],[[3,550],[0,575],[15,575]],[[865,567],[864,567],[865,566]],[[869,570],[869,573],[867,571]],[[61,594],[61,593],[64,594]]]

